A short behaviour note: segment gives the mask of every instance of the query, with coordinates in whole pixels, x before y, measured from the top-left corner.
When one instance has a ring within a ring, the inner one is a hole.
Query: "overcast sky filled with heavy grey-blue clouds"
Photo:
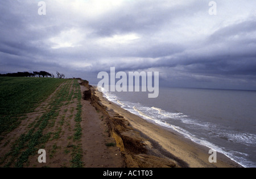
[[[64,73],[97,84],[110,67],[160,85],[256,90],[256,1],[0,1],[0,73]],[[209,10],[216,7],[216,15]]]

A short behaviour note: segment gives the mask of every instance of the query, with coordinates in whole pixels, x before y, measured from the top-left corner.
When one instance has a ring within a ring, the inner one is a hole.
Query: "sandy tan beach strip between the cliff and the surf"
[[[144,145],[151,155],[168,158],[180,167],[191,168],[240,168],[229,157],[217,152],[217,163],[209,163],[210,148],[197,144],[177,131],[149,122],[140,116],[122,109],[121,106],[108,101],[101,91],[94,87],[95,95],[100,99],[106,111],[114,111],[126,119],[130,126],[146,139]]]

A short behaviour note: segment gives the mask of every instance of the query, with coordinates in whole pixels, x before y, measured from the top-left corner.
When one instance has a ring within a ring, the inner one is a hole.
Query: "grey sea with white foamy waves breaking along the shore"
[[[145,120],[244,167],[256,167],[256,91],[159,88],[158,98],[148,98],[148,93],[100,90],[109,101]]]

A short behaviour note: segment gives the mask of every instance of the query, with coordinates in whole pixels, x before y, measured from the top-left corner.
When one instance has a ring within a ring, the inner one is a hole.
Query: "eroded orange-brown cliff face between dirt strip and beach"
[[[106,124],[108,124],[109,128],[109,136],[115,139],[117,147],[120,148],[126,167],[177,167],[177,165],[171,160],[148,155],[144,144],[145,139],[141,137],[139,132],[134,131],[130,126],[130,123],[123,118],[123,116],[114,113],[114,111],[107,111],[106,106],[102,105],[100,98],[98,98],[94,92],[95,89],[89,85],[88,81],[81,82],[81,85],[88,88],[88,90],[84,92],[83,98],[85,100],[90,100],[91,105],[94,106],[96,110],[101,111],[101,113],[104,114]]]

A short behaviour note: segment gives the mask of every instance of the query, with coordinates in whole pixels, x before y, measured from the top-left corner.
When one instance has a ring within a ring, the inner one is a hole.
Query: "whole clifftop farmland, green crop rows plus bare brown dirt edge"
[[[104,115],[82,99],[81,81],[0,77],[0,167],[123,166],[119,149],[106,145],[113,139]]]

